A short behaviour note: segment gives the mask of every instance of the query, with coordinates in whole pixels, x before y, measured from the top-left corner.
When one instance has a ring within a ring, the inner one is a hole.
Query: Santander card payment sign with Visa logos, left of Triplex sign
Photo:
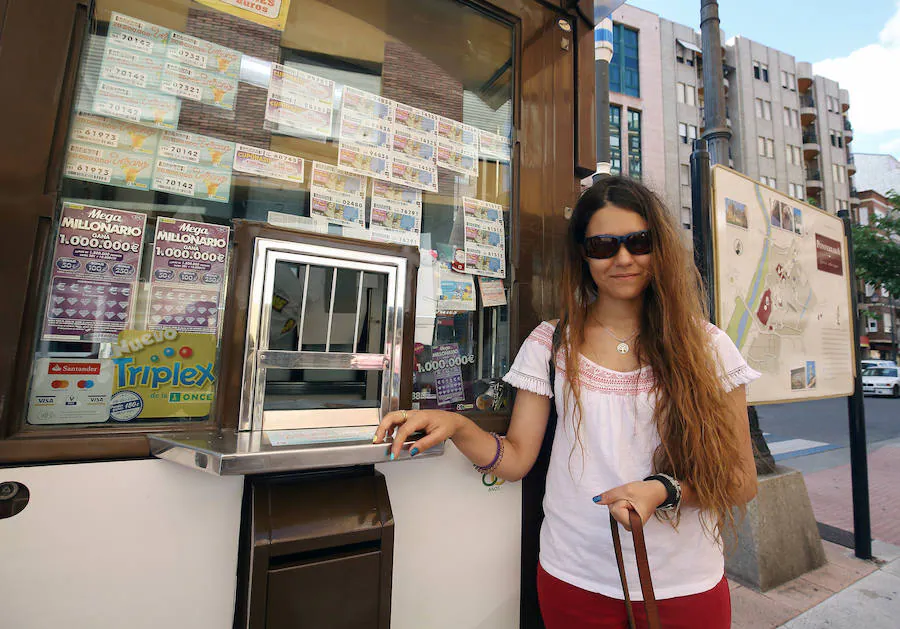
[[[28,423],[38,426],[105,422],[109,417],[112,380],[109,360],[36,359]]]

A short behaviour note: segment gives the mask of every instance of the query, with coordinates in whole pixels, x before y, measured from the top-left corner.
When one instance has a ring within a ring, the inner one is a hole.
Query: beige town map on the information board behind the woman
[[[853,321],[840,218],[713,168],[716,316],[762,377],[750,404],[853,392]]]

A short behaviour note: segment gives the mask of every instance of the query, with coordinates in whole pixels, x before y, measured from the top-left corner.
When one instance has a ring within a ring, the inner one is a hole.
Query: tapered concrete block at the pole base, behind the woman
[[[737,540],[725,540],[728,576],[766,591],[825,562],[803,475],[779,465],[773,474],[760,476]]]

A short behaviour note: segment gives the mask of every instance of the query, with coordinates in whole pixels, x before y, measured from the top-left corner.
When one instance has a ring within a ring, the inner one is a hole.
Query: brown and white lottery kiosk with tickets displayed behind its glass
[[[0,625],[519,626],[592,5],[0,0]]]

